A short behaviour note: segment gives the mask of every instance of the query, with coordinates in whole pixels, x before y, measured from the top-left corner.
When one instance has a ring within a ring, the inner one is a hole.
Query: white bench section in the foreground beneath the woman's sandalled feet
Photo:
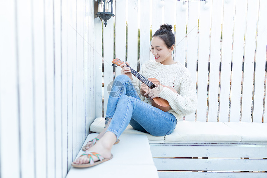
[[[89,134],[84,145],[97,134]],[[83,153],[81,150],[76,159]],[[66,178],[147,178],[158,177],[157,169],[152,160],[148,139],[145,135],[121,135],[120,143],[112,147],[113,158],[94,167],[71,167]]]

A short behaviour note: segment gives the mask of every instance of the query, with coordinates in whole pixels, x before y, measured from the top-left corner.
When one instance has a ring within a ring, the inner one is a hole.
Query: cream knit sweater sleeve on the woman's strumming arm
[[[197,109],[197,94],[190,74],[183,77],[179,94],[164,87],[159,97],[166,99],[170,107],[179,115],[189,115]]]

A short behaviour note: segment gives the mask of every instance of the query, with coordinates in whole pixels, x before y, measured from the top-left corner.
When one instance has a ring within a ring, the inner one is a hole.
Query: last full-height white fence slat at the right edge
[[[253,122],[263,121],[263,97],[264,97],[265,61],[266,61],[266,44],[267,44],[266,9],[267,9],[267,1],[260,1],[259,20],[257,29],[257,44],[256,44]]]

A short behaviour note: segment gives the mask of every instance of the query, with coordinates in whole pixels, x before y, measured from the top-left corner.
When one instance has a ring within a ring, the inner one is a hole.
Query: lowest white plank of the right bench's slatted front
[[[265,173],[258,172],[158,172],[160,178],[176,178],[176,177],[205,177],[205,178],[265,178]]]

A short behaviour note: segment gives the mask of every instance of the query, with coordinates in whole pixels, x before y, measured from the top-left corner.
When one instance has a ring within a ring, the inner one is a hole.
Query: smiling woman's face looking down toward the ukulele
[[[157,36],[153,37],[151,40],[151,52],[156,62],[167,65],[170,61],[173,61],[171,56],[172,50]]]

